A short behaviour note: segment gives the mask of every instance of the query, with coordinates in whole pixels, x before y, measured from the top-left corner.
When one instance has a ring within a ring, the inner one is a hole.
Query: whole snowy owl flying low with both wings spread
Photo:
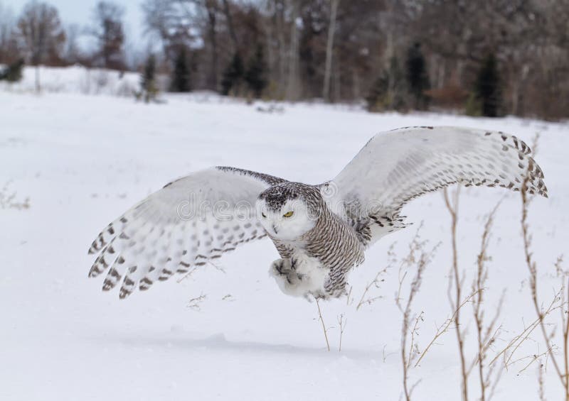
[[[269,237],[280,254],[270,274],[282,292],[340,297],[366,248],[405,227],[403,205],[425,192],[454,183],[527,185],[547,197],[530,153],[502,132],[421,126],[378,133],[320,185],[235,167],[193,172],[109,224],[89,249],[98,254],[89,276],[107,272],[102,289],[121,283],[124,298]]]

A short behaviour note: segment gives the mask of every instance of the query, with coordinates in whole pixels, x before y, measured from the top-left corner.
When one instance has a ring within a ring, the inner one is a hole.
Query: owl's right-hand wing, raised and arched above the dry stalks
[[[405,224],[411,199],[454,183],[547,197],[531,149],[507,133],[457,127],[407,127],[378,133],[329,185],[368,245]],[[359,225],[359,226],[358,226]]]

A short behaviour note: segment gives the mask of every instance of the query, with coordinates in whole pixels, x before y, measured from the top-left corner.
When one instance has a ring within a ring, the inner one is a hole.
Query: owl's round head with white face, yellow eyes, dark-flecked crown
[[[273,238],[292,241],[314,228],[323,204],[314,187],[285,182],[260,193],[257,218]]]

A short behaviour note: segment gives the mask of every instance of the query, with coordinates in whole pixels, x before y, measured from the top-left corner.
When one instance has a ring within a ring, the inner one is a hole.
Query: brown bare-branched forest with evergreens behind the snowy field
[[[154,45],[133,55],[119,4],[100,1],[84,27],[41,1],[17,16],[0,7],[0,63],[134,70],[152,90],[162,74],[174,92],[370,111],[569,116],[569,0],[145,0],[142,10],[136,41]]]

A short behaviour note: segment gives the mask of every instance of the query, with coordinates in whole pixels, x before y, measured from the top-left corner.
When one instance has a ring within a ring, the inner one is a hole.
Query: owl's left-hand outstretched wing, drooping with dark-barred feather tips
[[[220,258],[266,236],[255,211],[258,194],[281,178],[234,167],[211,167],[170,182],[109,224],[93,241],[89,277],[107,273],[102,289],[136,287]]]

